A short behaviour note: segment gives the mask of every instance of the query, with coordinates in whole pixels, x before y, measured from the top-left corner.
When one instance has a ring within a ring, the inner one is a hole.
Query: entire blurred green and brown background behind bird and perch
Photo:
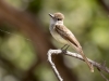
[[[63,46],[49,32],[48,13],[56,12],[85,55],[109,66],[109,0],[0,0],[0,81],[58,81],[47,60],[49,49]],[[52,58],[64,81],[105,81],[76,58]]]

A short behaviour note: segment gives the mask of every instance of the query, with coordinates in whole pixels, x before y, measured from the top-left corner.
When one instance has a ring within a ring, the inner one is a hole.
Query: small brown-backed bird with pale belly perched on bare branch
[[[76,50],[83,56],[90,71],[94,72],[94,67],[84,55],[80,42],[76,40],[74,35],[63,25],[64,15],[62,13],[55,13],[55,14],[49,13],[49,16],[51,17],[49,29],[52,37],[57,41],[63,44],[71,45],[74,50]]]

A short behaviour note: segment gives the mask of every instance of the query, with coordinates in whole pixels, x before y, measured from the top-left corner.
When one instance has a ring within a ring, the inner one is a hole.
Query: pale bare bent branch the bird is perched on
[[[59,79],[59,81],[63,81],[63,79],[61,78],[59,71],[57,70],[55,64],[52,63],[51,55],[53,55],[53,54],[57,54],[57,55],[58,55],[58,54],[62,54],[62,53],[63,53],[62,50],[49,50],[48,53],[47,53],[47,54],[48,54],[48,60],[49,60],[49,63],[50,63],[50,65],[51,65],[51,67],[52,67],[52,69],[53,69],[53,71],[55,71],[57,78]],[[83,57],[82,57],[80,54],[77,54],[77,53],[72,53],[72,52],[66,51],[66,52],[64,52],[64,55],[69,55],[69,56],[78,58],[78,59],[81,59],[81,60],[84,60]],[[94,60],[92,60],[92,59],[89,59],[89,58],[87,58],[87,59],[88,59],[88,62],[89,62],[94,67],[96,67],[96,68],[98,69],[98,71],[100,72],[101,77],[102,77],[106,81],[109,81],[109,80],[101,73],[101,70],[105,71],[105,72],[107,72],[107,73],[109,73],[109,68],[106,67],[106,66],[104,66],[104,65],[101,65],[101,64],[98,64],[98,63],[96,63],[96,62],[94,62]]]

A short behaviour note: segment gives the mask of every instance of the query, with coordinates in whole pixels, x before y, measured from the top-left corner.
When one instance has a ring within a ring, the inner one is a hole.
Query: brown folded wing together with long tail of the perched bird
[[[94,67],[90,65],[90,63],[87,60],[86,56],[84,55],[83,51],[82,51],[82,46],[80,45],[78,41],[76,40],[76,38],[74,37],[74,35],[64,26],[61,25],[56,25],[56,31],[65,40],[68,40],[68,42],[70,42],[70,44],[74,45],[74,49],[83,56],[83,58],[85,59],[86,64],[88,65],[88,67],[90,68],[90,71],[94,72]],[[69,37],[68,37],[69,36]]]

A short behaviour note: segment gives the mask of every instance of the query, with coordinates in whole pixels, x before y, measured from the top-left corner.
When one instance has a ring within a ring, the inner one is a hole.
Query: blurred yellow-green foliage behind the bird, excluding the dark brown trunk
[[[44,29],[47,31],[49,27],[48,13],[63,13],[65,16],[64,25],[76,36],[86,56],[99,63],[106,60],[107,66],[109,66],[109,11],[105,10],[99,0],[5,1],[17,10],[29,11],[35,16],[39,16],[45,27]],[[109,5],[109,1],[105,1]],[[62,46],[52,38],[51,42],[57,48]],[[72,51],[71,48],[69,50]],[[11,29],[10,25],[0,26],[0,56],[23,71],[28,70],[34,62],[37,60],[28,38],[17,29]],[[78,59],[64,56],[64,63],[69,68],[75,70],[78,81],[104,81],[97,70],[90,73],[85,64]],[[1,69],[3,68],[1,67]],[[8,78],[4,71],[1,71],[1,73]],[[11,77],[11,75],[9,76]],[[39,67],[36,67],[35,76],[40,81],[57,81],[52,70],[46,64],[40,64]],[[106,73],[106,76],[109,78],[109,75]]]

